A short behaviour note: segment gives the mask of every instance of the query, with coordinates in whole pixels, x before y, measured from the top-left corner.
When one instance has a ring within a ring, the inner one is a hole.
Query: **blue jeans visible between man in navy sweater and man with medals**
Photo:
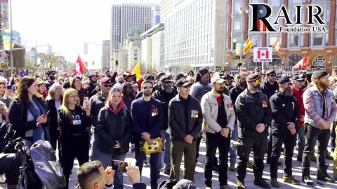
[[[171,169],[171,141],[170,134],[166,130],[160,131],[161,139],[163,139],[164,151],[159,153],[158,157],[158,172],[161,169],[170,170]]]

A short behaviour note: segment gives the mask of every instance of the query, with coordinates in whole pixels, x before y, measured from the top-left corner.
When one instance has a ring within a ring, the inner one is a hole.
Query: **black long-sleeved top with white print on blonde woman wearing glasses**
[[[89,143],[88,127],[91,126],[90,116],[86,116],[85,111],[83,111],[80,106],[76,106],[74,111],[74,114],[80,116],[81,125],[74,125],[73,119],[67,118],[65,113],[62,113],[60,110],[58,110],[58,125],[61,130],[61,148],[62,146],[70,147],[72,144],[78,144],[81,141],[85,142],[84,145],[88,145]]]

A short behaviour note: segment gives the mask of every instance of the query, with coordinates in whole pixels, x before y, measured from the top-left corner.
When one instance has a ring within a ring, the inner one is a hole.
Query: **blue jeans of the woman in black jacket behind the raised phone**
[[[93,134],[94,136],[95,134]],[[95,135],[97,137],[97,135]],[[93,137],[94,138],[94,137]],[[112,166],[112,160],[120,160],[124,161],[126,158],[126,153],[121,155],[116,154],[110,154],[110,153],[103,153],[97,148],[97,144],[95,143],[95,140],[93,139],[93,145],[92,145],[92,153],[90,160],[99,160],[102,162],[102,166],[104,168],[108,166]],[[114,174],[114,188],[115,189],[123,189],[123,172],[116,171]]]

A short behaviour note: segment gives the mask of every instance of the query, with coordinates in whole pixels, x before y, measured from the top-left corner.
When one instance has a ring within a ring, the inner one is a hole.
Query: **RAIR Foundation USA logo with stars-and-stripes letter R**
[[[279,9],[277,18],[275,20],[268,21],[267,18],[272,15],[272,8],[267,4],[249,4],[252,7],[251,22],[252,28],[250,32],[325,32],[325,28],[319,25],[325,25],[323,22],[321,13],[322,8],[316,5],[307,5],[305,8],[308,9],[308,22],[306,25],[309,27],[303,27],[303,22],[301,22],[301,12],[303,9],[302,5],[294,6],[296,9],[295,20],[290,19],[290,15],[286,10],[286,6],[282,6]],[[285,25],[295,25],[295,27],[284,27],[282,25],[283,20],[285,20]],[[316,23],[315,23],[316,21]],[[281,23],[279,29],[272,27],[272,24]],[[315,26],[314,26],[315,25]]]

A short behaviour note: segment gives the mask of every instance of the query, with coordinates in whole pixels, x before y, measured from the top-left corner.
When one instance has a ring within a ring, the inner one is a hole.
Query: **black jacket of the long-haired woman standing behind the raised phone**
[[[97,140],[97,146],[103,153],[113,153],[118,155],[127,153],[132,134],[132,119],[130,112],[123,107],[116,114],[107,107],[103,107],[100,109],[100,114],[98,115],[95,134],[98,136],[97,139],[95,139]],[[117,144],[117,141],[121,148],[112,148]]]

